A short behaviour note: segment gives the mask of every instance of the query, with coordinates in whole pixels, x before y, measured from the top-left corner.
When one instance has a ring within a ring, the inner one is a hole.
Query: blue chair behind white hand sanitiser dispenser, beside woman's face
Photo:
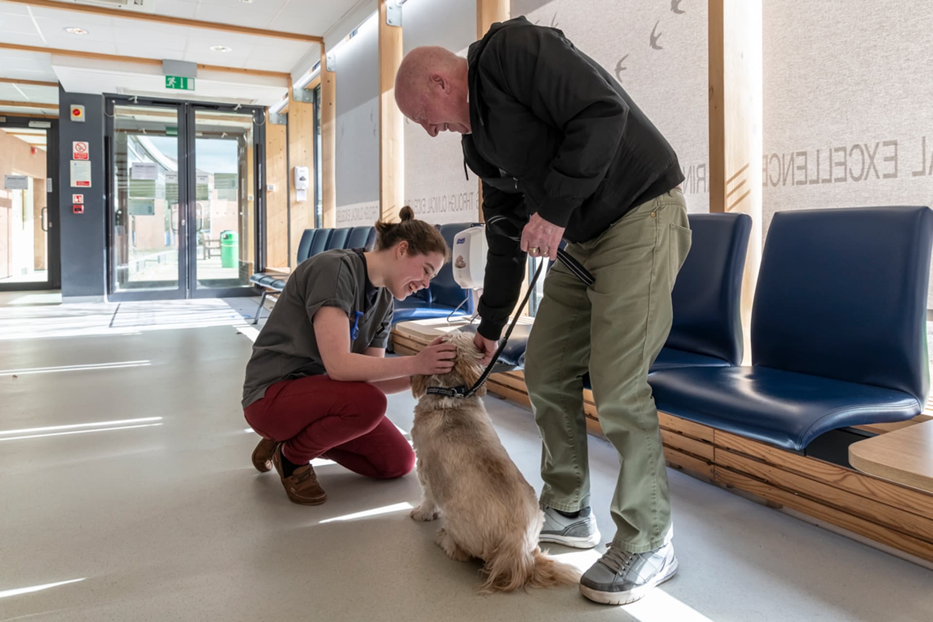
[[[471,226],[471,223],[456,223],[439,225],[438,229],[447,245],[453,248],[453,236]],[[463,303],[462,306],[457,309],[461,303]],[[451,262],[447,262],[438,275],[431,280],[431,285],[427,289],[405,300],[396,300],[392,323],[447,317],[452,314],[454,316],[472,315],[473,311],[473,297],[470,290],[462,288],[453,280],[453,266]]]

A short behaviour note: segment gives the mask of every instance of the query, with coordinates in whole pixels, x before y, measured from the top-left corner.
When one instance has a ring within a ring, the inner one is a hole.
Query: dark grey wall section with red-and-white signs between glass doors
[[[71,120],[71,104],[82,104],[85,121]],[[62,239],[62,297],[106,293],[104,236],[104,98],[59,89],[59,222]],[[72,142],[90,146],[91,187],[71,187]],[[84,214],[72,214],[72,194],[84,195]]]

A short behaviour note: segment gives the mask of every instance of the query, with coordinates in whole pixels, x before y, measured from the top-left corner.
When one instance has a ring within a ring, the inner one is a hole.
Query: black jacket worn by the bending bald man
[[[564,33],[524,17],[494,23],[468,50],[471,134],[464,159],[482,179],[489,242],[480,334],[500,336],[518,301],[531,214],[597,237],[635,205],[684,180],[661,132],[620,84]],[[505,218],[495,218],[504,216]]]

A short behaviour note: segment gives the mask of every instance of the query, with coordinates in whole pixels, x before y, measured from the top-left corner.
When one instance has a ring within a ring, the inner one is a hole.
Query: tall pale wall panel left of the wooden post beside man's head
[[[373,3],[375,6],[375,3]],[[334,50],[337,61],[337,226],[379,218],[379,29],[377,16]]]

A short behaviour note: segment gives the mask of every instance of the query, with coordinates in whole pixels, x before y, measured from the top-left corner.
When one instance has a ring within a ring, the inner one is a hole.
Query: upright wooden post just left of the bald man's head
[[[396,105],[396,72],[402,62],[402,28],[386,23],[379,0],[379,207],[395,221],[405,204],[405,117]]]

